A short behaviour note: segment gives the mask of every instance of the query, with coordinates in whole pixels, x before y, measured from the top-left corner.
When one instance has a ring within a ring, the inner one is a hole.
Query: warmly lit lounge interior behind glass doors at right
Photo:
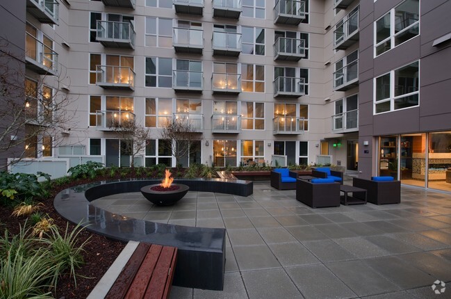
[[[451,191],[451,131],[379,136],[378,174]]]

